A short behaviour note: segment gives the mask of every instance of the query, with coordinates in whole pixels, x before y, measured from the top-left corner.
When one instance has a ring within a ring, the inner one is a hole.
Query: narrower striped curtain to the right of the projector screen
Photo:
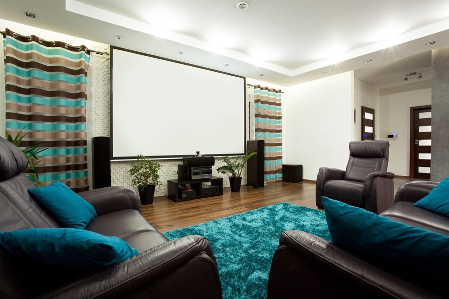
[[[265,141],[265,182],[282,180],[282,91],[254,86],[255,140]]]

